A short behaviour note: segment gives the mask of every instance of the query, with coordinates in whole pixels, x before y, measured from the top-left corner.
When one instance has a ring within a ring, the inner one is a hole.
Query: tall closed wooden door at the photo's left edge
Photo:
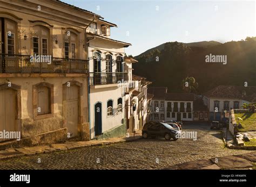
[[[16,123],[16,91],[0,90],[0,131],[18,131]],[[0,139],[5,141],[7,139]]]

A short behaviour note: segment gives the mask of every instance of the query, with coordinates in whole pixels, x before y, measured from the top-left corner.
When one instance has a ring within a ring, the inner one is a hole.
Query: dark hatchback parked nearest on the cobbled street
[[[180,133],[175,130],[171,125],[160,121],[149,121],[147,122],[142,129],[143,138],[156,138],[157,136],[163,136],[165,140],[170,140],[171,138],[176,141],[176,135]]]

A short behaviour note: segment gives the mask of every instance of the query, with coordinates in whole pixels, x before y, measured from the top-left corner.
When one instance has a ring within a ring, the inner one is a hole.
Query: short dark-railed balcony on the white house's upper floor
[[[90,85],[127,83],[127,80],[128,73],[123,72],[90,73]]]

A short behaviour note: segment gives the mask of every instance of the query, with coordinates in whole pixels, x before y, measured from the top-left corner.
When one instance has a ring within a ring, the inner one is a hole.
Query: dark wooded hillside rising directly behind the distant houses
[[[227,64],[206,63],[206,55],[227,55]],[[159,61],[156,61],[156,56]],[[152,86],[168,87],[170,92],[183,91],[181,82],[193,76],[198,92],[217,85],[256,85],[256,40],[230,41],[210,47],[188,47],[179,42],[167,42],[159,52],[136,57],[134,74],[147,77]]]

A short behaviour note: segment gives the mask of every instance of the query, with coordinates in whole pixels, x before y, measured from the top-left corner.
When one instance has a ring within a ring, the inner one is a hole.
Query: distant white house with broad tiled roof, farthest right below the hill
[[[219,85],[204,93],[210,120],[224,120],[224,111],[242,109],[244,103],[256,102],[256,87]]]

